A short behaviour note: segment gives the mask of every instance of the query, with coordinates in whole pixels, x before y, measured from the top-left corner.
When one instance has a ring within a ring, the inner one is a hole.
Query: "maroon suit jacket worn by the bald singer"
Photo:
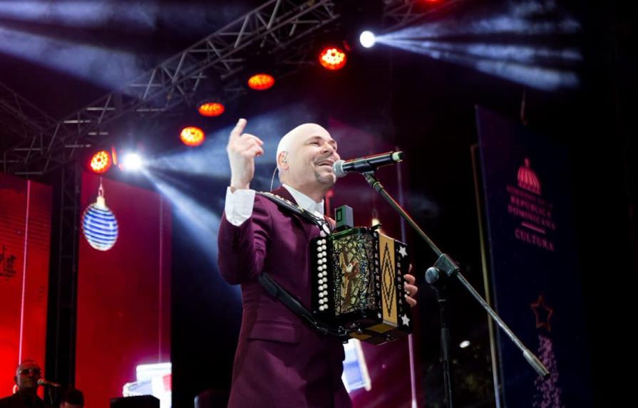
[[[284,187],[273,193],[294,202]],[[310,308],[309,241],[317,235],[317,226],[259,195],[242,225],[222,216],[220,271],[241,284],[243,302],[229,408],[351,407],[341,342],[309,328],[257,281],[269,273]]]

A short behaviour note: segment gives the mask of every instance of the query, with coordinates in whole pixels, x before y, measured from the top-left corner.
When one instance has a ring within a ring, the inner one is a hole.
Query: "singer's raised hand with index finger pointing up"
[[[259,137],[244,132],[246,120],[240,119],[230,132],[226,152],[230,162],[230,188],[248,189],[254,177],[254,158],[264,154]]]

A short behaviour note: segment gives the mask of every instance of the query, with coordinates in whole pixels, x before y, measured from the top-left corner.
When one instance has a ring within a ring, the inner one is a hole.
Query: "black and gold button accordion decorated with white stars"
[[[311,242],[312,313],[373,344],[412,331],[403,288],[408,247],[378,231],[356,227]]]

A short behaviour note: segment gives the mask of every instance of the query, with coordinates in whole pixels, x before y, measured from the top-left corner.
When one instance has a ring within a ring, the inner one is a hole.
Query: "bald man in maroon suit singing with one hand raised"
[[[250,189],[254,159],[264,150],[259,137],[244,133],[246,124],[240,119],[228,141],[231,178],[218,237],[222,276],[242,286],[242,328],[228,407],[351,407],[341,382],[341,342],[304,324],[257,281],[267,272],[310,308],[309,243],[321,232]],[[277,147],[282,187],[272,193],[323,218],[324,194],[336,182],[336,147],[319,125],[307,123],[288,132]],[[406,275],[406,281],[408,303],[416,305],[414,277]]]

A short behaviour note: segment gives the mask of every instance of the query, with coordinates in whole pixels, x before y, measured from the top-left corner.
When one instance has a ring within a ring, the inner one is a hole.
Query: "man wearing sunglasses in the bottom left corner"
[[[24,360],[16,370],[14,381],[18,385],[18,391],[0,399],[0,408],[49,408],[38,397],[38,380],[41,378],[40,365],[35,360]]]

